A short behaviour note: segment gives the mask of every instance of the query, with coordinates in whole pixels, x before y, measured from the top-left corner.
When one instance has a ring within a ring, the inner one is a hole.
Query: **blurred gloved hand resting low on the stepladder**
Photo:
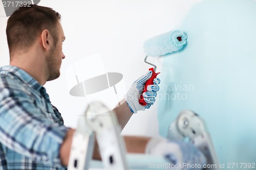
[[[164,156],[169,163],[166,169],[203,169],[206,164],[204,154],[192,143],[162,137],[151,138],[145,154]]]

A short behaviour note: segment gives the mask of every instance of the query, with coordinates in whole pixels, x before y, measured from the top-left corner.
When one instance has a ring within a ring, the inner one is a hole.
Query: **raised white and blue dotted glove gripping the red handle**
[[[159,83],[160,79],[154,79],[154,85],[148,85],[147,91],[142,94],[145,83],[152,76],[152,71],[148,71],[145,75],[141,76],[138,80],[136,80],[133,85],[130,87],[128,92],[124,95],[124,99],[126,100],[128,106],[130,107],[133,113],[137,113],[137,111],[149,109],[156,101],[157,91],[159,91]],[[144,101],[147,103],[146,106],[142,106],[139,104],[141,94],[144,97]]]

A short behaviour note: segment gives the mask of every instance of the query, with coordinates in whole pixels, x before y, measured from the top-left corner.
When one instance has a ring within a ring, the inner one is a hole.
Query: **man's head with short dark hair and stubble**
[[[47,81],[58,78],[61,60],[65,58],[62,53],[65,36],[59,21],[60,14],[48,7],[31,5],[14,11],[6,28],[11,63],[37,45],[35,52],[45,56]],[[39,60],[39,56],[34,59]]]

